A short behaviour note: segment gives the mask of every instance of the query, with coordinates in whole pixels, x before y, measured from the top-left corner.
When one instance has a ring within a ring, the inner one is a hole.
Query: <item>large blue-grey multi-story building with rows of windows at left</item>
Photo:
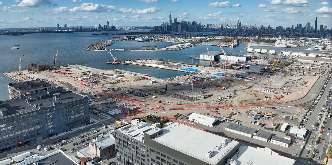
[[[0,150],[35,143],[89,123],[88,97],[62,88],[0,101]]]

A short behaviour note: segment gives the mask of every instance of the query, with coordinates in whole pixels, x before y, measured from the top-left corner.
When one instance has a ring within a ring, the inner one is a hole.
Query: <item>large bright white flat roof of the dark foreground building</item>
[[[178,122],[164,127],[163,133],[152,140],[209,164],[216,164],[228,151],[239,145],[237,141],[229,140]],[[219,149],[216,149],[216,146],[220,146],[221,142],[225,140],[229,140],[230,142],[226,146],[221,146]],[[214,156],[207,158],[205,154],[208,151],[216,152],[214,152]]]

